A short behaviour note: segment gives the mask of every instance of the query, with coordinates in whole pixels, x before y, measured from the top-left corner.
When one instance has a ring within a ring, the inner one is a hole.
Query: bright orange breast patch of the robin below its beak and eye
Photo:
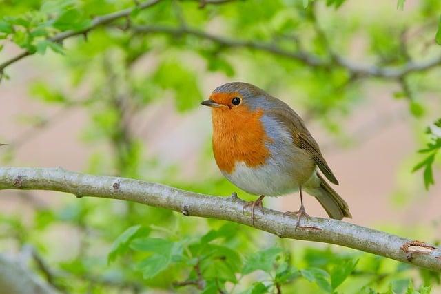
[[[269,157],[265,134],[260,122],[261,109],[251,112],[245,105],[237,109],[212,109],[213,151],[218,167],[228,174],[243,161],[247,167],[264,165]]]

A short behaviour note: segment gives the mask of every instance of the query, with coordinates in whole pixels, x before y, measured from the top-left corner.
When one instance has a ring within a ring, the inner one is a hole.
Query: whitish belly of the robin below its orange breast
[[[224,176],[234,185],[247,193],[265,196],[280,196],[298,191],[298,182],[292,176],[292,170],[283,170],[279,165],[247,167],[245,162],[236,162],[231,174]]]

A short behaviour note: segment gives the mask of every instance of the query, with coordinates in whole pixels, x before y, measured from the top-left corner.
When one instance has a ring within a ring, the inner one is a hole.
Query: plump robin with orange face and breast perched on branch
[[[285,215],[309,218],[303,189],[317,198],[330,218],[351,218],[349,207],[329,182],[338,181],[302,118],[289,105],[249,83],[217,87],[201,103],[212,108],[213,152],[222,174],[234,185],[260,196],[243,209],[262,209],[265,196],[300,191],[300,209]],[[317,169],[318,167],[318,169]]]

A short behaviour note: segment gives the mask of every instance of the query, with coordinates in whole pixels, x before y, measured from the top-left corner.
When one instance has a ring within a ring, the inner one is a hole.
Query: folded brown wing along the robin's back
[[[316,140],[314,140],[311,133],[309,133],[308,129],[305,127],[305,123],[303,123],[302,118],[300,118],[300,116],[296,114],[296,112],[294,112],[294,110],[288,105],[285,103],[283,104],[284,105],[281,105],[281,107],[274,107],[274,109],[271,109],[269,114],[287,126],[291,132],[294,145],[309,151],[320,171],[322,171],[330,182],[338,185],[336,176],[334,176],[325,158],[323,158]]]

